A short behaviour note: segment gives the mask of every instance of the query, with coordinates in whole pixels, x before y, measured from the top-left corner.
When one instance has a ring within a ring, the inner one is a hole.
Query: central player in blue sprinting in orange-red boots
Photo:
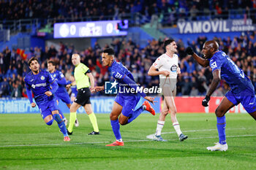
[[[102,53],[102,65],[110,66],[111,74],[113,78],[117,81],[116,85],[124,85],[128,88],[138,88],[138,85],[134,81],[134,78],[129,72],[129,70],[124,67],[121,63],[116,62],[114,59],[114,50],[112,48],[107,48]],[[93,89],[94,90],[94,89]],[[104,86],[95,87],[96,91],[104,90]],[[138,93],[118,93],[116,95],[112,112],[110,113],[110,123],[113,129],[113,133],[116,136],[116,142],[112,144],[107,144],[106,146],[124,146],[124,142],[121,139],[120,134],[120,125],[126,125],[127,123],[131,123],[132,120],[135,120],[136,117],[140,115],[143,110],[147,110],[151,112],[152,115],[155,115],[154,109],[148,103],[148,101],[144,101],[143,105],[138,109],[134,110],[138,101],[140,101],[140,96],[145,98],[154,104],[154,97],[146,96],[143,92]]]

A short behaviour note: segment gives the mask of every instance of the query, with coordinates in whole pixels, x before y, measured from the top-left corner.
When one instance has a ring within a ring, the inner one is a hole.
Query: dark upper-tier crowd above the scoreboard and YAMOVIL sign
[[[115,0],[115,1],[53,1],[53,0],[10,0],[0,1],[0,20],[20,20],[53,18],[61,20],[72,18],[72,21],[125,19],[139,13],[140,21],[158,20],[176,23],[178,19],[200,19],[198,15],[211,15],[214,18],[227,18],[229,9],[242,9],[244,14],[255,13],[256,2],[252,0]],[[251,9],[251,10],[249,10]],[[84,19],[86,18],[86,19]],[[247,16],[255,19],[255,16]],[[213,18],[212,18],[213,19]],[[44,23],[44,22],[42,22]],[[46,23],[45,23],[46,24]]]

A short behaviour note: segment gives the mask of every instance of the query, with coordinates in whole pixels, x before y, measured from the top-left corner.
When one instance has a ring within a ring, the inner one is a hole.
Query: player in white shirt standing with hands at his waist
[[[154,141],[165,141],[162,139],[161,132],[165,125],[165,117],[170,110],[170,119],[172,120],[173,128],[176,130],[178,138],[182,142],[187,139],[187,136],[182,134],[176,117],[177,109],[174,97],[176,96],[177,74],[180,74],[181,70],[178,67],[178,55],[175,54],[177,53],[177,45],[174,39],[167,39],[164,42],[164,48],[166,53],[159,56],[148,70],[148,75],[150,76],[159,75],[159,87],[162,88],[162,94],[165,97],[163,101],[164,106],[162,107],[162,111],[157,122],[157,131],[154,136]]]

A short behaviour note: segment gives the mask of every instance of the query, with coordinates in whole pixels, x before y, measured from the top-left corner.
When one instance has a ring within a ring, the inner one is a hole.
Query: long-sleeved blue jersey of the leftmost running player
[[[37,102],[43,103],[44,101],[49,101],[53,96],[48,97],[45,95],[46,91],[50,91],[50,84],[55,80],[47,71],[39,70],[39,74],[33,74],[29,72],[24,78],[26,87],[31,89],[34,93],[34,99]]]

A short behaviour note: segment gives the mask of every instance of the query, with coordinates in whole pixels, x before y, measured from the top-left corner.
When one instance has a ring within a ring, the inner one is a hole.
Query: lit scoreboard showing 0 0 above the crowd
[[[76,23],[55,23],[53,36],[59,38],[82,38],[94,36],[126,36],[128,20],[105,20]]]

